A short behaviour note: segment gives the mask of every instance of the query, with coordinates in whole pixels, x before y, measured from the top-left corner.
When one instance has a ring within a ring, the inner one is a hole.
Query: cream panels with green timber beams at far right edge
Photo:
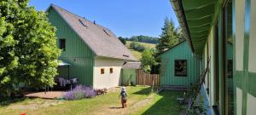
[[[234,110],[236,115],[253,115],[256,113],[256,1],[233,0],[232,8]]]

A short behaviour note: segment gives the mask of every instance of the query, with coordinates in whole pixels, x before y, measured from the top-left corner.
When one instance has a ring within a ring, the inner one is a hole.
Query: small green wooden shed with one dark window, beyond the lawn
[[[200,57],[192,54],[187,41],[166,50],[158,58],[163,87],[188,87],[200,76]]]

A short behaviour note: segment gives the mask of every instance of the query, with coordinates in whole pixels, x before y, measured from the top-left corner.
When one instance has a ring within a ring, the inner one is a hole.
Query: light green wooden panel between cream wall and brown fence
[[[137,69],[122,69],[122,84],[133,83],[136,84]]]

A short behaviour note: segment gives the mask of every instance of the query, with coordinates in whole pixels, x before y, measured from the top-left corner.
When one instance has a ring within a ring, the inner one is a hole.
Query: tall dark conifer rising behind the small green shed
[[[168,17],[166,17],[164,27],[162,27],[161,30],[160,42],[156,45],[156,49],[158,49],[159,53],[163,52],[165,49],[172,48],[178,43],[177,29],[173,21],[169,20]]]

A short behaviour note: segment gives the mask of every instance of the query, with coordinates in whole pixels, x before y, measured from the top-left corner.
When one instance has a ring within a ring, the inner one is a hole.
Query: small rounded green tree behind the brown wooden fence
[[[153,49],[145,49],[143,51],[141,62],[144,72],[150,73],[151,67],[156,64],[153,53]]]

